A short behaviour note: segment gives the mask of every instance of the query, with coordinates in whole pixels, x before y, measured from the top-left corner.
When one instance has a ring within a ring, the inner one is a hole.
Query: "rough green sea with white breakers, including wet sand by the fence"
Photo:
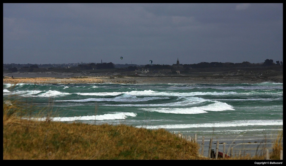
[[[196,138],[204,156],[217,145],[226,154],[252,156],[271,151],[277,140],[283,147],[283,83],[3,83],[3,104],[14,99],[36,108],[33,120],[180,133]]]

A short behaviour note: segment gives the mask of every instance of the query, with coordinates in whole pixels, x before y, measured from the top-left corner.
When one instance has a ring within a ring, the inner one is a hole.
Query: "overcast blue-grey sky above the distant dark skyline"
[[[177,59],[283,61],[283,3],[3,3],[3,64]]]

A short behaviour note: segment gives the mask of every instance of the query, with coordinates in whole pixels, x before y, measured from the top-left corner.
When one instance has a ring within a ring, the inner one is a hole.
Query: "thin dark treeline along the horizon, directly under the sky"
[[[242,63],[231,63],[231,62],[200,62],[196,64],[184,64],[184,65],[159,65],[159,64],[148,64],[148,65],[136,65],[136,64],[125,64],[120,66],[120,69],[125,71],[135,71],[139,68],[145,68],[150,70],[156,69],[170,69],[180,70],[180,71],[188,71],[189,69],[196,69],[196,68],[210,68],[210,67],[263,67],[263,66],[272,66],[272,65],[283,65],[282,61],[273,62],[272,59],[266,59],[263,63],[250,63],[250,62],[242,62]],[[128,67],[127,67],[128,66]],[[69,63],[69,64],[3,64],[3,71],[9,70],[11,72],[38,72],[38,71],[62,71],[62,72],[71,72],[71,71],[78,71],[78,70],[94,70],[94,69],[114,69],[118,68],[112,62],[110,63]]]

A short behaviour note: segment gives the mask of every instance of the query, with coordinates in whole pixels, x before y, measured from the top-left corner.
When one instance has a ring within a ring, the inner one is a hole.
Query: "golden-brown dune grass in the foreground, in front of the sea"
[[[3,99],[3,160],[208,159],[200,155],[198,143],[181,139],[164,129],[22,119],[30,116],[30,109]],[[282,149],[278,140],[271,159],[279,159]],[[265,157],[246,155],[231,159]]]

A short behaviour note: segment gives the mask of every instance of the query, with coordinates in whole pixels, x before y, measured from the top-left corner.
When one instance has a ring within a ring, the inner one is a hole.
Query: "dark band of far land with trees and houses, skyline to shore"
[[[178,63],[178,62],[177,62]],[[244,61],[242,63],[221,63],[221,62],[200,62],[197,64],[173,64],[173,65],[160,65],[160,64],[113,64],[110,63],[78,63],[78,64],[3,64],[3,73],[13,72],[62,72],[62,73],[122,73],[129,75],[130,72],[134,73],[135,70],[148,69],[150,72],[170,71],[176,74],[177,71],[184,74],[194,72],[229,72],[229,71],[244,71],[249,75],[256,76],[259,71],[276,71],[272,76],[280,75],[283,73],[283,62],[273,62],[272,59],[266,59],[263,63],[250,63]],[[273,75],[274,74],[274,75]],[[257,75],[258,76],[258,75]]]

